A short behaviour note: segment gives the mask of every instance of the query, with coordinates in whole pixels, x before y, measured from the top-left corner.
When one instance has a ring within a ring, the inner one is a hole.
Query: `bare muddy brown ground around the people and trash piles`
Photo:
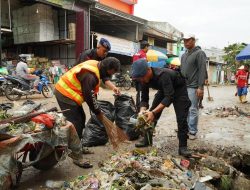
[[[207,101],[207,92],[204,96],[204,109],[200,110],[199,133],[198,139],[189,140],[189,146],[194,149],[228,149],[235,147],[236,150],[242,152],[250,151],[250,118],[244,115],[229,115],[228,117],[217,117],[216,114],[223,107],[239,107],[247,113],[250,113],[250,103],[240,104],[238,98],[234,96],[235,86],[211,86],[210,94],[214,101]],[[124,92],[125,93],[125,92]],[[135,90],[126,91],[135,97]],[[151,101],[155,91],[151,91]],[[114,102],[114,98],[109,90],[101,90],[99,99]],[[55,98],[44,99],[42,96],[31,96],[30,99],[39,101],[45,107],[57,106]],[[250,102],[250,97],[247,97]],[[25,99],[23,99],[25,100]],[[4,97],[0,98],[1,102],[6,102]],[[16,102],[21,103],[22,101]],[[89,111],[84,106],[87,118]],[[88,119],[87,119],[88,120]],[[156,134],[154,137],[154,145],[160,148],[165,154],[177,154],[177,137],[175,129],[176,120],[174,109],[172,106],[166,108],[158,122]],[[132,150],[135,142],[124,145],[120,151]],[[100,146],[92,148],[95,154],[86,155],[94,164],[94,169],[98,168],[100,161],[106,160],[115,151],[111,146]],[[216,151],[215,151],[216,152]],[[23,172],[21,184],[18,189],[44,189],[46,180],[69,180],[78,175],[91,172],[93,169],[81,169],[72,163],[70,158],[60,162],[54,169],[41,172],[34,168],[27,168]]]

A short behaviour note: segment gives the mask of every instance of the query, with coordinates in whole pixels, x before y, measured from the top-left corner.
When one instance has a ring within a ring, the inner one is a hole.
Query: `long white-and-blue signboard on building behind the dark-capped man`
[[[117,53],[121,55],[133,56],[139,49],[138,44],[129,40],[112,37],[109,35],[95,33],[97,40],[101,38],[107,39],[111,44],[110,53]]]

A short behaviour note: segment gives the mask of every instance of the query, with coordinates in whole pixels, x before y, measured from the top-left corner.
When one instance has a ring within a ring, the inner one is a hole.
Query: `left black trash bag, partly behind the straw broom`
[[[97,101],[104,115],[111,121],[115,120],[115,107],[107,101]],[[104,125],[97,119],[94,113],[86,124],[82,137],[82,146],[91,147],[105,145],[108,142],[108,135]]]

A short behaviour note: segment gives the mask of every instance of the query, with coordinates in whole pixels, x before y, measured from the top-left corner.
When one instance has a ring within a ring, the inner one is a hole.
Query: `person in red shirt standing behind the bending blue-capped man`
[[[149,43],[147,41],[141,41],[140,43],[140,51],[138,51],[134,56],[133,56],[133,63],[139,59],[147,59],[147,52],[149,48]],[[141,85],[139,82],[135,81],[135,89],[136,89],[136,107],[137,110],[139,110],[140,107],[140,100],[141,100]]]

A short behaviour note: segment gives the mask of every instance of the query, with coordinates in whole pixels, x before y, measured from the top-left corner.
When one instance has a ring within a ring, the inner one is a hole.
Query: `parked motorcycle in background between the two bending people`
[[[132,86],[132,80],[128,74],[117,73],[111,79],[117,87],[122,87],[125,90],[129,90]]]

